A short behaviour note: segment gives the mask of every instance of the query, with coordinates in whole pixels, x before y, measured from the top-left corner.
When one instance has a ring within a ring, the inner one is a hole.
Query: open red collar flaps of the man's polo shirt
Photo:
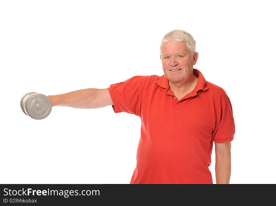
[[[205,78],[203,77],[202,73],[198,70],[198,69],[194,69],[193,68],[193,73],[196,77],[198,77],[198,82],[195,86],[195,92],[197,92],[199,89],[202,89],[203,91],[205,91],[206,89],[208,89],[208,87],[205,86],[206,84],[206,80]],[[168,90],[170,88],[170,85],[169,85],[169,80],[167,79],[167,77],[165,76],[165,74],[163,74],[163,76],[158,79],[156,81],[156,83],[165,88],[166,90]]]

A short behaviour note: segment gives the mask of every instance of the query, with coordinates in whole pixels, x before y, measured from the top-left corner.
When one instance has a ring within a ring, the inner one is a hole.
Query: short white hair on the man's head
[[[162,53],[162,46],[165,43],[168,43],[168,42],[176,43],[181,41],[184,41],[186,43],[186,46],[188,47],[189,51],[191,52],[191,55],[193,56],[195,52],[194,38],[190,33],[184,30],[172,30],[169,33],[167,33],[161,41],[160,53]]]

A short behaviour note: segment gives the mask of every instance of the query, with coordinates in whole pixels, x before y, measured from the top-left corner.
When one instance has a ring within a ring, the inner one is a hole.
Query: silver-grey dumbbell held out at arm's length
[[[34,119],[44,119],[50,114],[52,103],[45,95],[28,92],[20,99],[20,107],[26,115]]]

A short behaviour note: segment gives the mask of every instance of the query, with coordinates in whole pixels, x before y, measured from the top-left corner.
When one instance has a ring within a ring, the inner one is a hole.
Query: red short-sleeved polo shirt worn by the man
[[[177,100],[165,75],[134,76],[108,88],[115,113],[141,118],[130,184],[213,184],[213,142],[232,141],[235,123],[226,92],[193,69],[195,89]]]

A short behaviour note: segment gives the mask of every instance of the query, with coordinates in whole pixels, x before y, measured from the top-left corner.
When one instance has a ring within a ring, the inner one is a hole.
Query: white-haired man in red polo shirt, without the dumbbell
[[[107,89],[48,96],[53,106],[100,108],[141,118],[137,164],[130,183],[212,184],[215,142],[217,184],[229,184],[235,123],[226,92],[193,68],[195,41],[183,30],[166,34],[160,46],[164,75],[134,76]]]

